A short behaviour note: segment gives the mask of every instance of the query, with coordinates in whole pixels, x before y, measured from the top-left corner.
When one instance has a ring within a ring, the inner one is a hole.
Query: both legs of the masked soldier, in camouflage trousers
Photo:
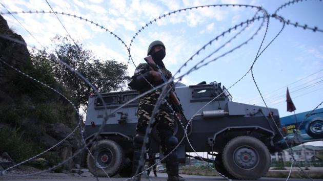
[[[140,155],[146,155],[146,153],[142,154],[142,146],[143,144],[146,144],[146,148],[149,146],[149,142],[144,140],[144,137],[152,111],[155,107],[156,99],[152,99],[153,96],[146,96],[139,102],[137,112],[138,123],[136,127],[137,134],[134,138],[133,175],[136,170],[138,170],[137,173],[142,172],[142,168],[138,168]],[[156,128],[160,138],[160,146],[164,155],[168,155],[178,143],[177,138],[173,136],[174,119],[175,115],[172,107],[167,101],[164,101],[155,116],[155,124],[157,124]],[[173,151],[169,156],[167,156],[166,169],[169,176],[178,175],[178,158],[176,151]]]

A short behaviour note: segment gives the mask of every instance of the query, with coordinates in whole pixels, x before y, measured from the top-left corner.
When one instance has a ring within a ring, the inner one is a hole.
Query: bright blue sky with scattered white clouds
[[[45,0],[1,0],[10,12],[50,11],[51,8]],[[166,46],[164,63],[175,78],[184,75],[199,61],[212,54],[205,61],[216,59],[207,66],[191,72],[181,79],[181,83],[193,85],[201,81],[207,83],[221,82],[227,88],[239,80],[249,70],[255,60],[261,41],[266,33],[267,21],[263,18],[252,23],[238,26],[230,33],[223,32],[239,25],[254,16],[264,16],[255,8],[246,7],[204,7],[173,13],[169,16],[158,18],[163,14],[179,9],[203,5],[217,4],[243,4],[260,6],[266,9],[268,14],[288,1],[105,1],[105,0],[48,0],[54,11],[70,13],[82,16],[99,26],[107,28],[127,46],[136,35],[131,44],[130,51],[133,62],[128,64],[128,73],[133,75],[135,65],[144,62],[147,48],[153,40],[161,40]],[[7,12],[0,6],[0,12]],[[317,27],[323,29],[323,2],[308,1],[295,3],[282,8],[277,12],[290,22],[298,22],[299,25]],[[90,24],[85,20],[67,15],[57,14],[60,24],[53,13],[18,13],[13,14],[20,22],[17,22],[10,14],[3,14],[9,27],[26,40],[28,46],[42,49],[52,44],[51,39],[55,35],[71,37],[83,44],[84,48],[93,51],[96,57],[102,60],[114,59],[128,63],[128,51],[120,40],[109,32]],[[154,21],[154,18],[157,18]],[[144,30],[140,30],[146,24],[153,21]],[[31,36],[22,25],[33,35]],[[258,31],[258,29],[260,30]],[[271,17],[269,19],[266,38],[260,52],[272,41],[281,30],[282,23]],[[253,36],[256,33],[255,36]],[[194,55],[205,44],[212,41],[210,46],[194,56],[187,66],[175,74],[179,67]],[[234,38],[233,38],[234,37]],[[238,49],[241,43],[246,42]],[[233,38],[233,39],[232,39]],[[230,39],[232,41],[228,42]],[[72,43],[72,39],[70,39]],[[225,46],[224,46],[225,45]],[[234,49],[232,53],[226,52]],[[222,56],[226,54],[225,56]],[[280,117],[293,113],[286,111],[286,89],[290,90],[291,98],[295,104],[295,113],[314,109],[323,101],[323,33],[312,30],[296,28],[286,25],[269,47],[261,53],[253,66],[253,75],[265,102],[269,107],[277,108]],[[251,73],[232,86],[229,92],[233,101],[264,106]],[[318,108],[322,108],[319,106]],[[323,146],[322,142],[317,142]]]

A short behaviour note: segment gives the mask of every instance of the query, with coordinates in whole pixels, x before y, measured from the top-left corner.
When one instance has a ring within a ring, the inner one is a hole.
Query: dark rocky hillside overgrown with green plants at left
[[[42,69],[33,66],[25,40],[10,30],[0,15],[0,155],[6,152],[18,163],[67,137],[77,126],[78,119],[62,96],[19,74],[4,62],[64,95],[68,93],[53,75],[44,75]],[[40,156],[44,161],[42,166],[50,167],[70,157],[82,147],[80,138],[80,131],[76,131],[67,141]],[[65,169],[75,164],[80,164],[80,156],[65,164]]]

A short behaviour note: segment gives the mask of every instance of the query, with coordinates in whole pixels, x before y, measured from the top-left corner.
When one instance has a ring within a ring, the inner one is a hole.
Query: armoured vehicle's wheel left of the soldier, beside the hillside
[[[113,176],[117,173],[123,163],[123,150],[112,140],[101,140],[94,143],[88,153],[87,165],[93,175],[99,177]]]

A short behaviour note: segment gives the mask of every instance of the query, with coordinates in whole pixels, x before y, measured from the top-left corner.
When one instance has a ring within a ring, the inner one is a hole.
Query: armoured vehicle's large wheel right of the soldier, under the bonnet
[[[258,179],[267,173],[271,157],[260,140],[240,136],[227,143],[222,154],[225,169],[237,179]]]

